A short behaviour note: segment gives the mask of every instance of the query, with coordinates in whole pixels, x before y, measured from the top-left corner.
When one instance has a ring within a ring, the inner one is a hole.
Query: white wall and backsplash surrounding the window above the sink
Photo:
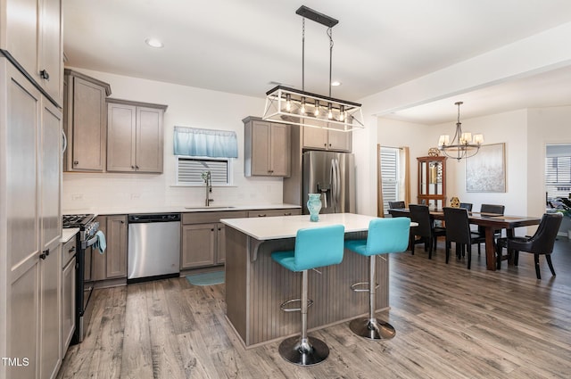
[[[172,153],[174,126],[234,130],[238,158],[234,186],[214,187],[212,205],[261,205],[282,202],[282,179],[244,177],[244,124],[242,119],[261,115],[264,100],[194,87],[178,86],[91,70],[74,69],[111,85],[110,97],[169,106],[164,115],[164,171],[149,174],[64,173],[62,210],[124,211],[145,207],[203,205],[203,187],[177,187]]]

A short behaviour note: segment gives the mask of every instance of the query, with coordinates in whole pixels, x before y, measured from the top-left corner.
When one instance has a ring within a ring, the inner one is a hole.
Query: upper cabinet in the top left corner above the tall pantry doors
[[[0,48],[61,106],[61,0],[4,0],[0,6]]]

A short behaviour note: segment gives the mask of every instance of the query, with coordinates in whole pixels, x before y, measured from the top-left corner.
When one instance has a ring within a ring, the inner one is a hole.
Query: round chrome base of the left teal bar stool
[[[327,344],[318,338],[299,336],[285,339],[279,344],[279,355],[298,366],[314,366],[323,362],[329,355]]]

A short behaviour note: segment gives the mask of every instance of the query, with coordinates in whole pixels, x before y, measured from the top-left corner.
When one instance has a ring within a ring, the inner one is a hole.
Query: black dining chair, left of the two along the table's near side
[[[443,227],[434,227],[427,205],[409,204],[410,221],[418,223],[418,227],[410,227],[410,252],[414,254],[417,243],[425,244],[428,259],[432,259],[432,251],[436,249],[436,238],[446,235]],[[417,238],[418,237],[418,238]]]

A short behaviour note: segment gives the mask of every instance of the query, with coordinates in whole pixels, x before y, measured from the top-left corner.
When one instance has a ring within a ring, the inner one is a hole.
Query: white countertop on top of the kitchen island
[[[345,233],[368,230],[368,223],[375,217],[354,213],[320,214],[318,222],[311,222],[310,215],[277,216],[268,218],[223,218],[220,221],[228,227],[250,235],[256,240],[275,240],[292,238],[298,229],[306,227],[325,227],[341,224]]]

